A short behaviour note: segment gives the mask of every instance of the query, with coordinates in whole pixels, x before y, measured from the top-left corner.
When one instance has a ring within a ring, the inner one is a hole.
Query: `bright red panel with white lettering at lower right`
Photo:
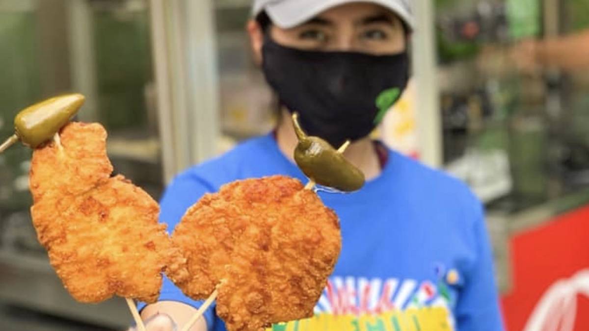
[[[589,206],[518,233],[509,244],[514,283],[502,307],[508,330],[521,331],[548,287],[589,269]],[[589,330],[589,298],[577,296],[576,315],[574,330]]]

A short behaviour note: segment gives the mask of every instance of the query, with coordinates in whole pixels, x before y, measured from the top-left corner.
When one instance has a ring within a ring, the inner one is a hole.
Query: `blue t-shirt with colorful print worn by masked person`
[[[234,180],[282,174],[306,178],[272,135],[177,176],[161,200],[172,231],[205,193]],[[389,151],[382,174],[352,194],[319,192],[335,210],[342,252],[315,316],[275,330],[502,330],[481,204],[454,178]],[[169,280],[160,300],[198,307]],[[214,313],[209,330],[225,330]]]

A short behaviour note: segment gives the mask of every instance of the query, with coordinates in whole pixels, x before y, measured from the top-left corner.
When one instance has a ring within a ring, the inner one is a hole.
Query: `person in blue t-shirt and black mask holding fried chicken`
[[[273,133],[180,174],[161,201],[176,226],[207,192],[230,181],[284,174],[293,163],[290,114],[366,176],[352,194],[320,192],[340,217],[343,250],[315,317],[280,330],[502,330],[481,204],[459,181],[370,139],[409,78],[413,26],[405,0],[256,0],[252,48],[281,108]],[[184,325],[200,303],[164,282],[147,319]],[[224,330],[213,309],[193,330]],[[329,326],[326,326],[329,325]]]

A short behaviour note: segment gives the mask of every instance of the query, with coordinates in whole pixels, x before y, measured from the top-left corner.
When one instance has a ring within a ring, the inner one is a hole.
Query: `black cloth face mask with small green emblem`
[[[401,96],[409,79],[407,52],[368,55],[303,51],[266,38],[266,80],[309,135],[339,147],[366,137]]]

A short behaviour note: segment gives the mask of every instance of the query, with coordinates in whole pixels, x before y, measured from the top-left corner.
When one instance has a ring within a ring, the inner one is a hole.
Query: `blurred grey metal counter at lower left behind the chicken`
[[[101,304],[75,302],[47,258],[0,252],[0,284],[0,303],[41,313],[38,320],[2,316],[0,330],[3,331],[126,330],[132,321],[121,298]],[[64,320],[59,322],[52,316]]]

